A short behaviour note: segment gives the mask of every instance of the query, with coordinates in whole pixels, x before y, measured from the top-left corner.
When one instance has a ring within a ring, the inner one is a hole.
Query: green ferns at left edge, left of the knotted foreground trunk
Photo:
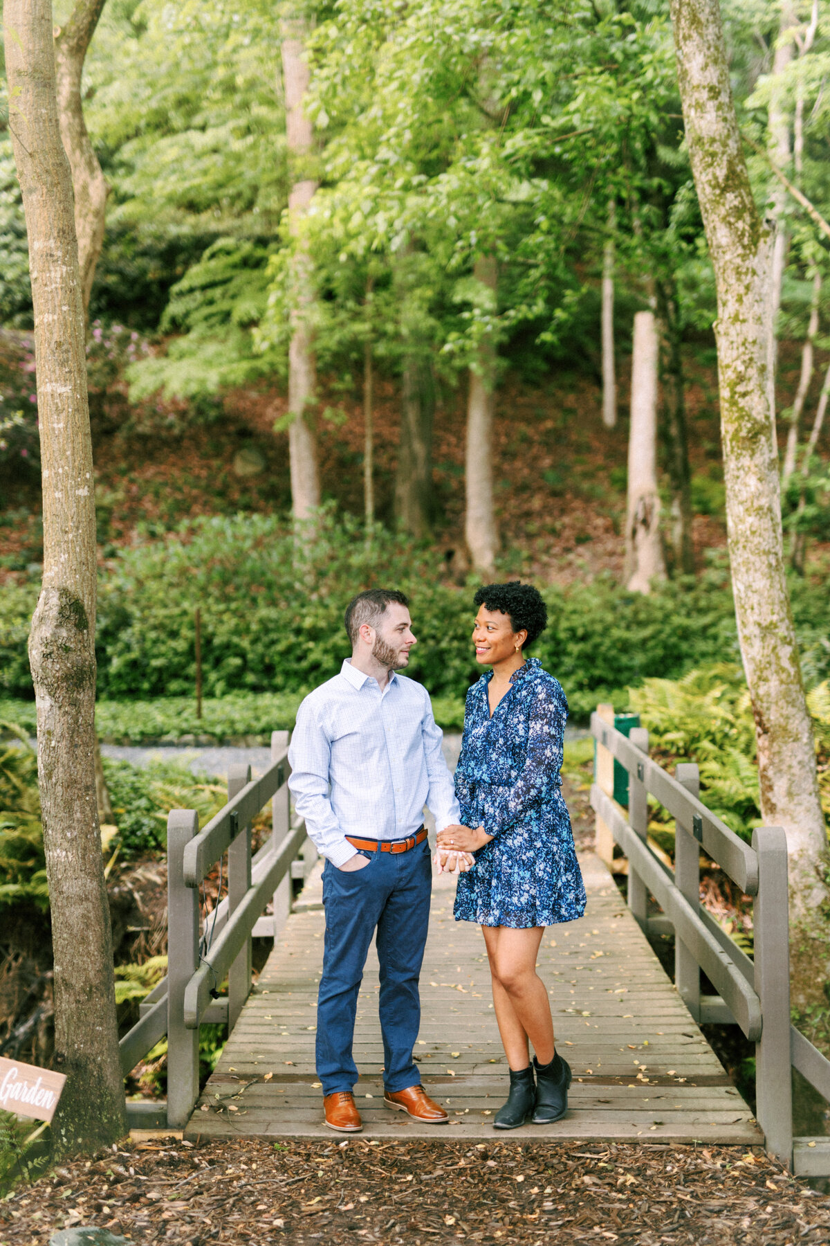
[[[49,911],[46,857],[40,822],[37,754],[15,725],[14,744],[0,745],[0,912],[12,906]]]

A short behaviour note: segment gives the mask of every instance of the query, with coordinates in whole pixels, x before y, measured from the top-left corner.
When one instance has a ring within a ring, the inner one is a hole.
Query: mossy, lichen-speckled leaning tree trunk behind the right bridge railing
[[[716,274],[727,532],[758,741],[762,815],[783,826],[793,916],[826,898],[813,729],[784,573],[769,394],[773,237],[749,184],[718,0],[671,0],[686,138]]]

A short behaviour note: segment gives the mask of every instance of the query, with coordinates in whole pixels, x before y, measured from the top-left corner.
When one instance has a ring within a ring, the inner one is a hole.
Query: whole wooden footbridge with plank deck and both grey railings
[[[765,1143],[796,1172],[830,1174],[830,1139],[791,1134],[790,1068],[830,1099],[830,1062],[790,1027],[783,832],[760,829],[752,847],[744,844],[697,799],[696,768],[678,766],[669,776],[648,759],[645,731],[627,738],[615,729],[610,706],[600,706],[591,730],[597,851],[581,860],[587,910],[580,921],[546,931],[539,956],[557,1047],[574,1070],[570,1110],[554,1125],[498,1136]],[[290,911],[289,878],[307,873],[314,854],[302,825],[291,820],[286,744],[275,734],[274,761],[260,779],[229,776],[229,804],[202,832],[194,812],[170,814],[169,974],[122,1039],[128,1072],[167,1033],[168,1101],[161,1109],[128,1104],[134,1126],[166,1124],[188,1138],[331,1138],[314,1067],[325,928],[320,871],[311,871]],[[612,795],[615,759],[628,780],[627,807]],[[677,820],[674,872],[648,845],[648,792]],[[250,821],[268,800],[273,839],[251,858]],[[609,871],[615,844],[628,858],[627,902]],[[701,850],[754,898],[754,961],[699,903]],[[228,897],[204,920],[199,887],[225,855]],[[453,887],[452,877],[434,880],[416,1048],[423,1084],[447,1105],[449,1125],[424,1126],[383,1106],[372,954],[355,1035],[365,1138],[494,1136],[506,1063],[482,936],[453,921]],[[674,933],[677,986],[648,943],[651,932]],[[253,983],[251,936],[265,934],[274,949]],[[230,1033],[199,1090],[199,1025],[212,1020],[226,1022]],[[706,1042],[698,1024],[706,1020],[738,1024],[755,1042],[758,1119]]]

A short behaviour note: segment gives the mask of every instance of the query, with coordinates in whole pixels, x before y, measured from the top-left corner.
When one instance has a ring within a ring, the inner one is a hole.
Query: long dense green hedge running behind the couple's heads
[[[419,643],[409,673],[433,697],[457,704],[478,675],[469,640],[474,586],[449,587],[442,572],[434,549],[383,531],[367,549],[357,521],[332,513],[322,516],[316,538],[305,546],[276,517],[194,521],[119,552],[103,573],[98,693],[107,700],[192,699],[199,604],[205,697],[258,692],[296,698],[335,674],[347,654],[342,612],[352,593],[385,584],[412,597]],[[31,697],[26,635],[36,591],[30,584],[0,594],[0,690],[6,697]],[[534,652],[561,680],[574,718],[584,718],[607,689],[738,660],[723,566],[711,567],[697,582],[671,582],[650,597],[627,593],[610,577],[544,593],[550,627]],[[818,683],[830,674],[828,589],[794,582],[793,602],[808,682]],[[182,713],[189,714],[184,703]],[[179,734],[195,731],[190,724]],[[251,733],[223,728],[220,734]]]

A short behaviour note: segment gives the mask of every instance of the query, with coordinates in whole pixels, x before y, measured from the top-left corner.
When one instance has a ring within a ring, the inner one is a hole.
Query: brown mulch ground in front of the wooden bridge
[[[131,1141],[0,1202],[0,1246],[106,1226],[136,1244],[830,1241],[830,1197],[755,1148]]]

